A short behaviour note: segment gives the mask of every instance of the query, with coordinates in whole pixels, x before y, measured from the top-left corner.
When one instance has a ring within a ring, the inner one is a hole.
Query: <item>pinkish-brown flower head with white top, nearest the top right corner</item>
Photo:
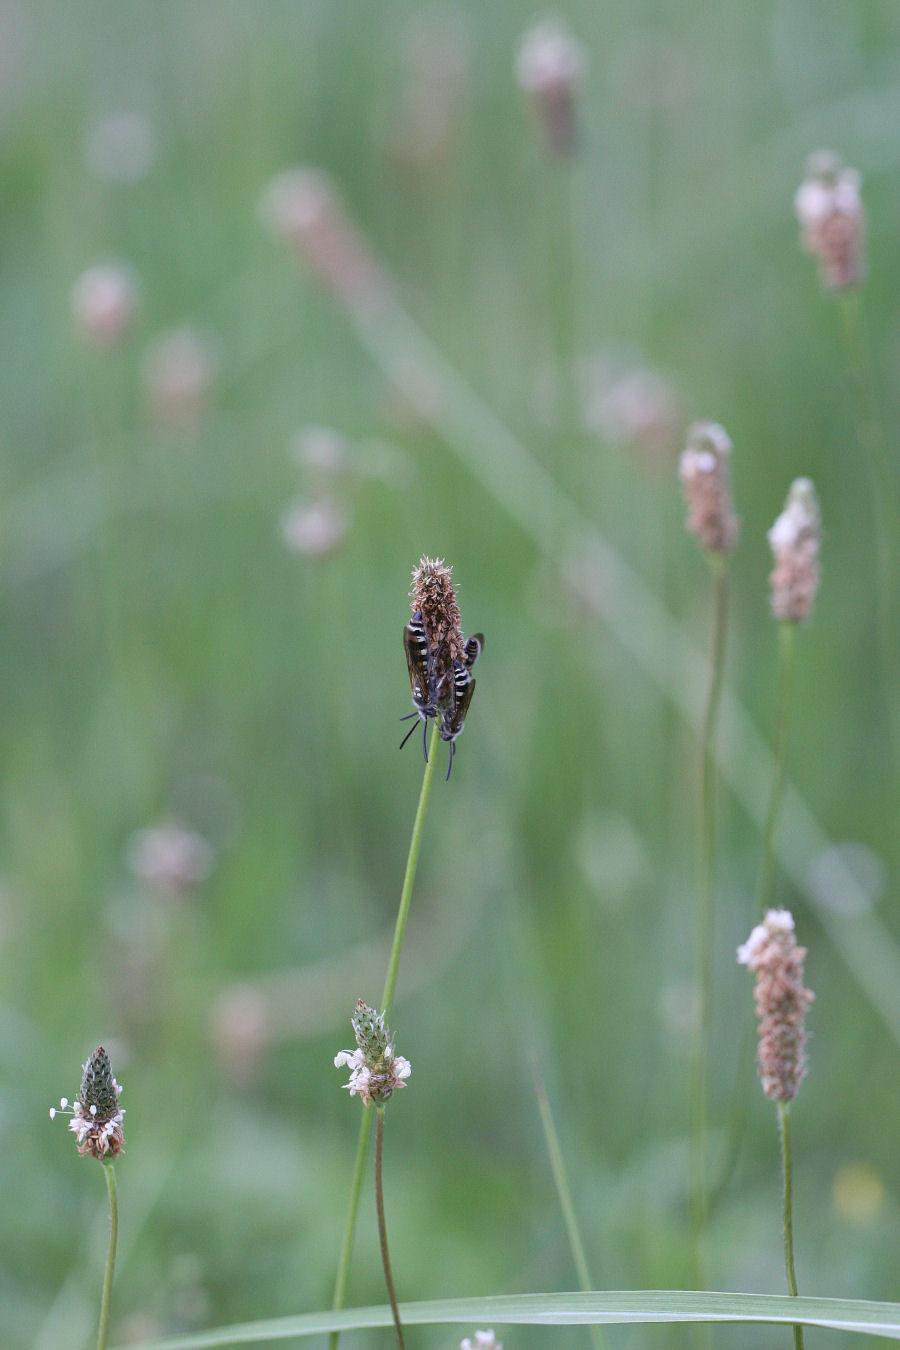
[[[865,275],[865,212],[860,174],[830,150],[807,162],[806,178],[793,197],[800,246],[819,259],[822,284],[847,290]]]

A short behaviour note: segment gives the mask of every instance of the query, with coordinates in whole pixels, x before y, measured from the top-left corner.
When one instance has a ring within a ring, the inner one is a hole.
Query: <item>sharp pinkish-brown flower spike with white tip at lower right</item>
[[[773,1102],[792,1102],[807,1072],[804,1022],[814,995],[803,987],[806,954],[788,910],[769,910],[738,948],[739,964],[756,972],[760,1079]]]

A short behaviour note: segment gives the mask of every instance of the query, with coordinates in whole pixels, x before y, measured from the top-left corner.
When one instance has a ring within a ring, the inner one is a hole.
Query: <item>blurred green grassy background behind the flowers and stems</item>
[[[11,1350],[93,1335],[104,1187],[47,1107],[101,1041],[128,1111],[113,1341],[331,1301],[359,1116],[332,1060],[356,998],[381,995],[421,782],[417,737],[397,751],[421,554],[453,564],[486,649],[448,783],[441,748],[391,1014],[413,1064],[386,1139],[399,1296],[575,1285],[530,1054],[596,1285],[690,1278],[698,747],[667,697],[677,663],[668,691],[648,678],[567,587],[565,540],[513,518],[522,485],[486,490],[393,389],[389,338],[381,359],[363,351],[263,227],[266,185],[291,165],[331,176],[401,304],[700,645],[708,575],[676,463],[691,418],[725,424],[743,522],[729,679],[766,737],[765,531],[789,481],[814,477],[823,589],[797,634],[791,771],[830,838],[854,844],[862,900],[839,913],[828,857],[818,906],[777,880],[816,991],[793,1112],[797,1274],[801,1292],[900,1297],[900,1027],[876,1007],[897,998],[897,770],[872,498],[838,313],[792,215],[811,151],[862,171],[893,454],[900,9],[557,12],[588,61],[564,166],[514,77],[532,0],[0,4]],[[587,413],[560,435],[565,238]],[[97,346],[72,292],[111,259],[134,269],[140,308]],[[735,1081],[749,1089],[710,1281],[781,1292],[775,1112],[739,1058],[750,979],[734,964],[760,837],[727,791],[719,828],[714,1152]],[[842,941],[873,932],[884,963],[864,988]],[[368,1184],[349,1300],[383,1301]],[[787,1343],[766,1328],[715,1341]]]

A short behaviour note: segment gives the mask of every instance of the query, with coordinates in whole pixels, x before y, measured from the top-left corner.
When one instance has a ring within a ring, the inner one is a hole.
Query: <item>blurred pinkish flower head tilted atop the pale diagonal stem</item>
[[[387,284],[347,217],[331,178],[317,169],[286,169],[266,188],[259,216],[352,310],[379,308]]]

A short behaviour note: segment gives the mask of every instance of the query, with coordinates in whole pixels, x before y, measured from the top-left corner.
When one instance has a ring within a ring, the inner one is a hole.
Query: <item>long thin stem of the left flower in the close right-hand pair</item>
[[[707,1216],[706,1184],[706,1092],[712,1003],[712,941],[715,905],[712,876],[715,860],[715,736],[725,676],[725,634],[729,613],[727,566],[722,554],[710,554],[714,585],[712,657],[700,733],[700,857],[695,907],[698,1018],[691,1054],[691,1166],[690,1208],[694,1261],[698,1282],[703,1282],[700,1245]]]

